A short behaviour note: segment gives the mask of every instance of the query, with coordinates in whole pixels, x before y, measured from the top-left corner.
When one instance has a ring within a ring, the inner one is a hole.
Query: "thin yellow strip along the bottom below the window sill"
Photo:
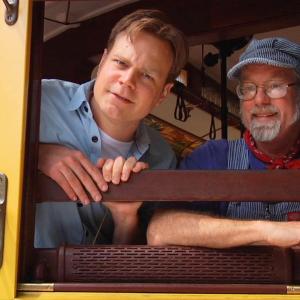
[[[299,295],[217,295],[217,294],[136,294],[136,293],[21,293],[26,300],[299,300]]]

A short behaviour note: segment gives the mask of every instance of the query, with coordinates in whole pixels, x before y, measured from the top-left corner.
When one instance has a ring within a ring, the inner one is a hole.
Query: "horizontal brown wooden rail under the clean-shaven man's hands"
[[[127,183],[110,185],[104,201],[300,201],[300,171],[145,171]],[[66,201],[40,174],[38,202]]]

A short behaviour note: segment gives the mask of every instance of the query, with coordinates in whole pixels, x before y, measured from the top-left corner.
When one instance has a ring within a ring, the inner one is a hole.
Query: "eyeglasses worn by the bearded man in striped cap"
[[[278,99],[286,96],[287,90],[290,86],[299,84],[298,82],[293,83],[278,83],[278,82],[269,82],[266,85],[256,85],[251,82],[241,83],[236,87],[237,96],[241,101],[252,100],[256,94],[259,87],[264,89],[265,94],[271,99]]]

